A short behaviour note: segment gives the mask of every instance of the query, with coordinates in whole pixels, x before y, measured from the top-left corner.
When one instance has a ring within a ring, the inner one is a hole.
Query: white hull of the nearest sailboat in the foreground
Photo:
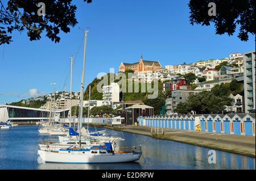
[[[72,151],[75,152],[75,151]],[[66,154],[38,150],[42,161],[51,163],[122,163],[139,160],[141,154],[115,153],[115,154]]]

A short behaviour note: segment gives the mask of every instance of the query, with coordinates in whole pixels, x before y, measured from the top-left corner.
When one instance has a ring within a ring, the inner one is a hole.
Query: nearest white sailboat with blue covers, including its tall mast
[[[79,111],[79,147],[71,146],[58,151],[38,150],[40,159],[44,162],[52,163],[121,163],[137,161],[141,158],[141,147],[130,148],[129,151],[116,151],[115,142],[105,142],[104,145],[93,145],[90,148],[81,146],[82,129],[82,109],[84,98],[84,73],[86,57],[86,40],[88,31],[84,32],[84,62],[82,68],[82,81],[80,91],[80,111]],[[88,117],[89,118],[89,117]]]

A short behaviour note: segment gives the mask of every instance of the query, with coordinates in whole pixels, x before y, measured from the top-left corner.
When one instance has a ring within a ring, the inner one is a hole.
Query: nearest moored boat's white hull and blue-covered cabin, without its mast
[[[59,151],[38,150],[44,162],[51,163],[121,163],[134,162],[142,155],[141,148],[131,151],[114,151],[111,143],[94,145],[91,148],[70,147]]]

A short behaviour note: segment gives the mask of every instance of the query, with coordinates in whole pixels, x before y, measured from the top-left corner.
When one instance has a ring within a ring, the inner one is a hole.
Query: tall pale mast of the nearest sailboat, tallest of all
[[[82,108],[84,100],[84,73],[85,73],[85,63],[86,63],[86,41],[87,41],[87,32],[84,32],[84,63],[82,66],[82,81],[81,81],[81,95],[80,95],[80,114],[79,114],[79,148],[81,148],[81,129],[82,129]]]

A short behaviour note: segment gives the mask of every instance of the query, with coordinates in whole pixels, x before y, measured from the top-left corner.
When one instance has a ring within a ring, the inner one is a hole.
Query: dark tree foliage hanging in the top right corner
[[[210,2],[216,3],[216,16],[208,15]],[[188,5],[192,25],[209,26],[213,23],[216,34],[228,33],[229,36],[235,33],[238,26],[238,38],[242,41],[249,39],[248,33],[255,35],[255,0],[190,0]]]

